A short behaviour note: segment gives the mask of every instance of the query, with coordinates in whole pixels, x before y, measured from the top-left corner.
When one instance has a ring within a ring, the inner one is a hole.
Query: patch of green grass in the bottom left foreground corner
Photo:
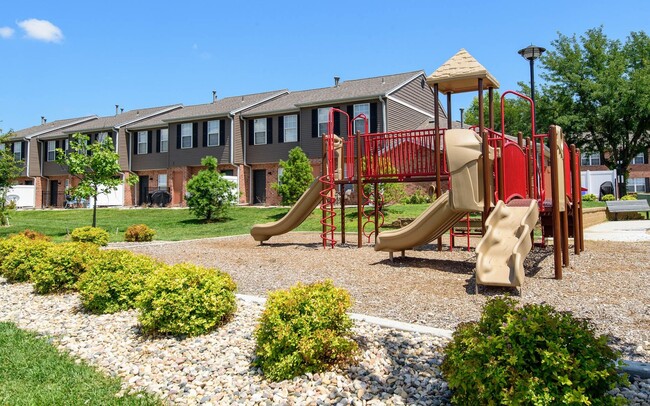
[[[159,405],[151,395],[126,395],[108,378],[59,353],[45,339],[0,323],[0,404],[2,405]]]

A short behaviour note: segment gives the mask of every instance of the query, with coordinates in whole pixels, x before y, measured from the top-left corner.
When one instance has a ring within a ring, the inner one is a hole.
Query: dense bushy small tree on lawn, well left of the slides
[[[187,205],[192,214],[206,221],[223,219],[237,199],[236,185],[217,171],[217,158],[206,156],[201,165],[206,169],[187,182]]]

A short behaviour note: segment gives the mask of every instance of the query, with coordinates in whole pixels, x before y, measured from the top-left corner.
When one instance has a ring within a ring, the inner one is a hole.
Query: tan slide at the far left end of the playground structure
[[[291,210],[280,220],[266,224],[255,224],[251,228],[251,235],[255,241],[266,241],[274,235],[288,233],[298,227],[321,202],[321,183],[316,179],[309,189],[300,196]]]

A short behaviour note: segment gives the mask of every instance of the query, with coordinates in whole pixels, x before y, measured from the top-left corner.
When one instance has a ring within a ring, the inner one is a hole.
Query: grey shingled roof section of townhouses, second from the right
[[[147,123],[139,123],[137,126],[129,126],[128,129],[144,128],[143,125],[161,126],[166,123],[181,122],[188,120],[197,120],[211,117],[225,117],[229,114],[235,114],[242,110],[264,103],[267,100],[273,100],[278,96],[286,94],[287,90],[274,90],[271,92],[247,94],[243,96],[232,96],[218,99],[212,103],[196,104],[185,106],[182,109],[165,114],[164,117],[148,120]]]

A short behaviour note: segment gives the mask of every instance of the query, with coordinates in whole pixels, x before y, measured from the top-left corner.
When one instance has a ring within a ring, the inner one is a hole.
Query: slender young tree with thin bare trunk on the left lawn
[[[79,199],[94,198],[93,227],[97,226],[97,196],[110,193],[123,183],[133,185],[138,177],[130,174],[124,181],[119,155],[110,137],[102,142],[88,145],[88,136],[76,133],[70,140],[70,151],[56,150],[56,162],[67,168],[68,173],[79,180],[79,184],[66,191]]]

